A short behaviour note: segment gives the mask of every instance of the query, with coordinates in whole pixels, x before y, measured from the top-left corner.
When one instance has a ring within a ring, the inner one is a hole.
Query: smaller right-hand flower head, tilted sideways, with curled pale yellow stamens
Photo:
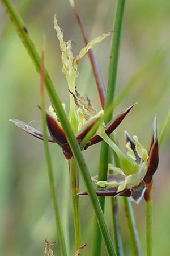
[[[131,138],[127,131],[125,131],[125,134],[127,140],[126,154],[111,141],[103,130],[99,132],[99,135],[120,158],[121,168],[109,164],[108,169],[111,173],[106,181],[97,181],[97,177],[93,178],[99,187],[103,187],[96,190],[97,196],[130,196],[131,200],[139,203],[144,195],[145,200],[148,201],[150,199],[152,177],[159,163],[156,117],[148,152],[138,141],[137,136]],[[87,195],[87,192],[80,192],[79,195]]]

